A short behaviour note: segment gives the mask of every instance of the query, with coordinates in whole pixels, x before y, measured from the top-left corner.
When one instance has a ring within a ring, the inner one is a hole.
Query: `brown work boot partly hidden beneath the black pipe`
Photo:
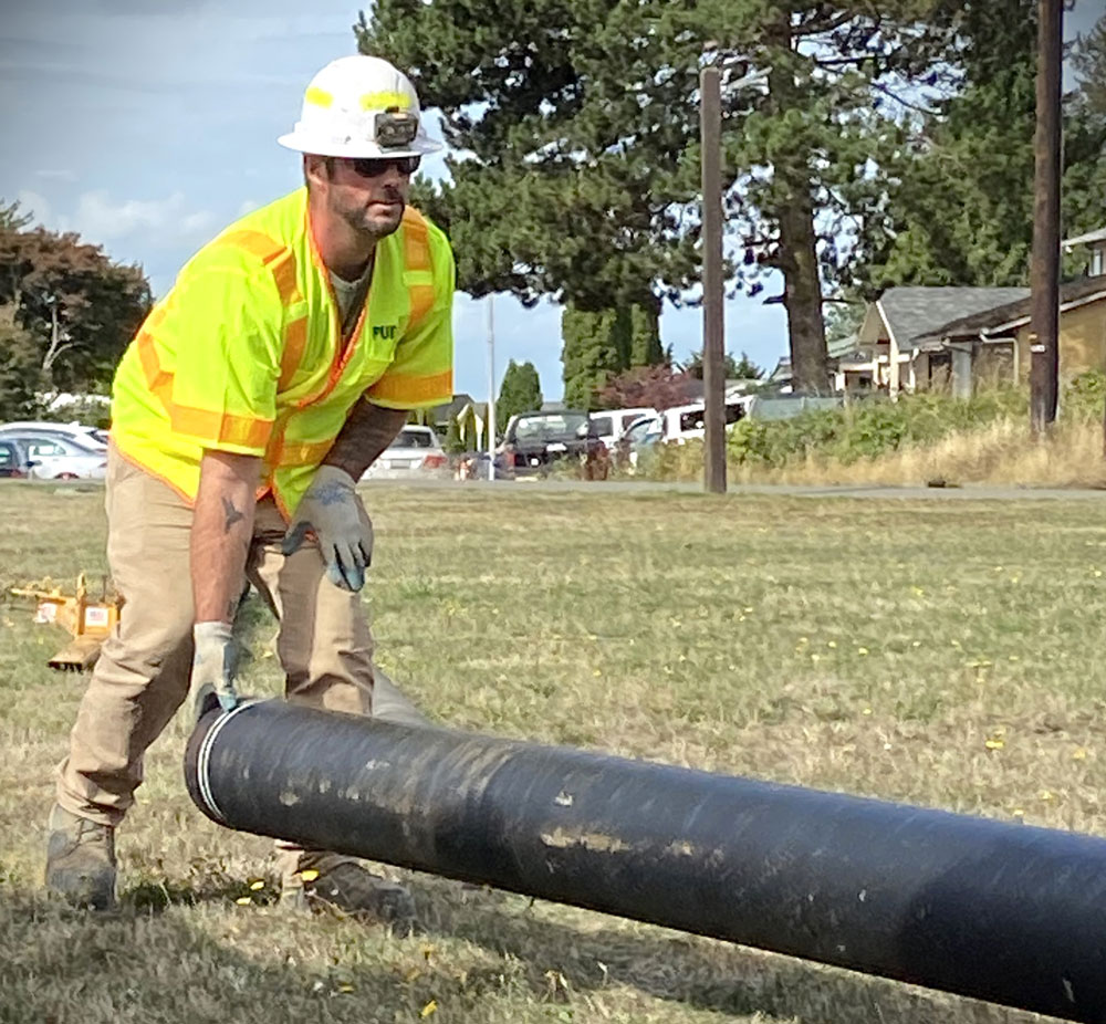
[[[406,886],[338,854],[302,854],[299,869],[281,882],[281,903],[338,910],[389,924],[397,936],[409,936],[417,926],[415,900]]]

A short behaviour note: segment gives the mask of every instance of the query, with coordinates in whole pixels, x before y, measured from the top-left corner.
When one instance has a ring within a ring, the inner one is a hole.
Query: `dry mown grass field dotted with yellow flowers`
[[[1106,835],[1096,501],[367,500],[379,660],[441,722]],[[0,591],[102,573],[101,503],[0,488]],[[242,688],[274,692],[252,617]],[[121,832],[123,910],[69,911],[41,886],[82,691],[44,665],[60,640],[0,598],[3,1024],[1033,1020],[428,876],[411,938],[289,916],[268,840],[190,804],[184,717]]]

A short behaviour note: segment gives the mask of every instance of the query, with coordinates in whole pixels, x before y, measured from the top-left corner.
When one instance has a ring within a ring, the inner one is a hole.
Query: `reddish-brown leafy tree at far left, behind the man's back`
[[[149,311],[142,269],[73,233],[24,230],[12,211],[0,217],[0,323],[33,343],[41,387],[105,387]]]

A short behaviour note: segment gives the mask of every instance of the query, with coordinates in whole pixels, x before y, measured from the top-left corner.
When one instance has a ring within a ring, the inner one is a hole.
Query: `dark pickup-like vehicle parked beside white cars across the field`
[[[567,461],[577,461],[588,479],[606,477],[606,446],[581,409],[512,416],[500,451],[504,469],[515,477],[544,476]]]

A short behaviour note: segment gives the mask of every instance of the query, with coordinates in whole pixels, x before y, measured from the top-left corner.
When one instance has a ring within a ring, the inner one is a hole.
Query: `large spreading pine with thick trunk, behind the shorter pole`
[[[921,20],[935,7],[377,0],[357,34],[364,52],[411,69],[463,150],[448,161],[451,181],[420,192],[450,231],[460,286],[583,311],[685,300],[699,279],[700,65],[764,70],[764,91],[724,97],[724,185],[745,252],[734,273],[754,292],[764,271],[782,273],[775,301],[787,310],[796,384],[820,390],[822,274],[831,286],[847,278],[843,224],[878,206],[869,171],[905,130],[898,109],[876,107],[896,85],[916,94],[943,54],[947,19],[932,31]],[[616,365],[591,356],[566,353],[566,374],[580,365],[578,399]]]

